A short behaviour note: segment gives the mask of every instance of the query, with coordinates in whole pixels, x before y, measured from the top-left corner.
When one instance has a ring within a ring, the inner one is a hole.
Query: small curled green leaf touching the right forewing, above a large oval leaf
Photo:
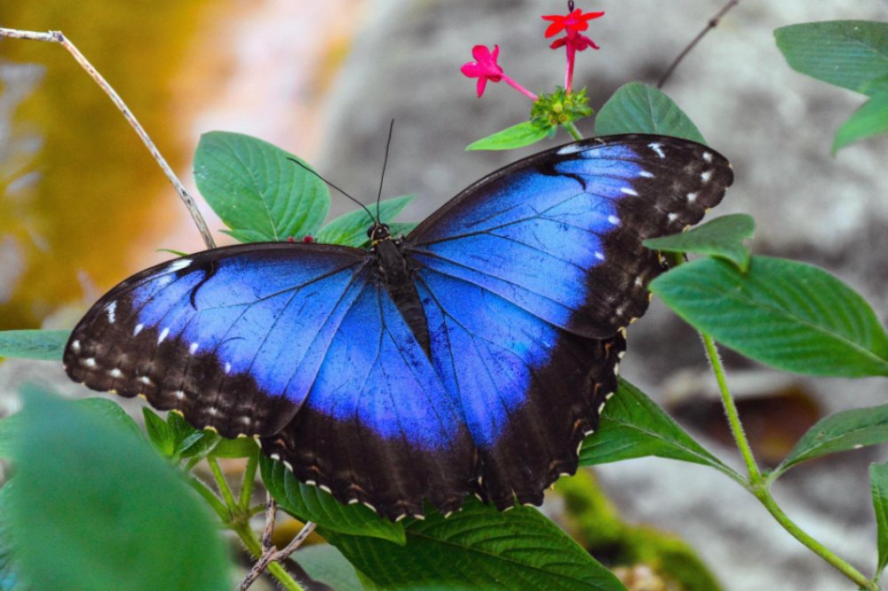
[[[736,264],[741,271],[746,271],[749,269],[749,248],[743,245],[743,240],[752,238],[755,232],[756,221],[752,216],[733,214],[716,217],[687,232],[651,238],[643,244],[647,248],[665,252],[721,256]]]

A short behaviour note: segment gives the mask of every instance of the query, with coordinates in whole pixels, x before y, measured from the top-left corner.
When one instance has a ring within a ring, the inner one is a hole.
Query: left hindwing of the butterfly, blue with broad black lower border
[[[456,510],[477,473],[459,400],[378,284],[345,316],[305,406],[263,447],[303,482],[392,519],[422,515],[424,498]]]

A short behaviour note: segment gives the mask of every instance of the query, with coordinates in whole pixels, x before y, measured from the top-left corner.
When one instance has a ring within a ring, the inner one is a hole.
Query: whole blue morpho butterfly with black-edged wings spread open
[[[641,241],[698,222],[732,180],[683,139],[556,147],[406,237],[373,222],[369,250],[243,244],[139,272],[80,321],[65,366],[258,437],[302,482],[391,519],[472,493],[538,505],[574,473],[662,271]]]

